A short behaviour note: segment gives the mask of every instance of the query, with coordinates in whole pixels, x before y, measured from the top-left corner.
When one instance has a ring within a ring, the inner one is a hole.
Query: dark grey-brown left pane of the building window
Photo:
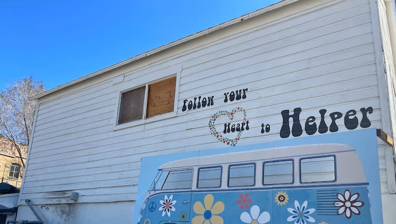
[[[118,124],[143,118],[146,86],[125,92],[121,95]]]

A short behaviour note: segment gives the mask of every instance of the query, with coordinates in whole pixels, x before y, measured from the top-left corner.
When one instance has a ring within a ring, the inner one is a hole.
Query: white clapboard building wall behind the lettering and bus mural
[[[80,203],[133,201],[142,157],[226,147],[208,120],[236,107],[250,122],[238,145],[281,140],[281,111],[297,107],[301,123],[312,115],[318,121],[326,109],[328,125],[331,112],[353,109],[360,121],[359,109],[372,107],[371,127],[382,128],[374,42],[369,0],[297,1],[44,96],[20,203],[66,203],[72,191]],[[176,114],[115,125],[120,91],[174,73]],[[225,92],[243,88],[246,99],[223,102]],[[182,112],[183,100],[197,96],[214,96],[214,105]],[[339,131],[347,131],[343,120]],[[261,123],[272,131],[261,134]],[[387,170],[389,147],[381,140],[378,146],[381,190],[388,193],[394,170]]]

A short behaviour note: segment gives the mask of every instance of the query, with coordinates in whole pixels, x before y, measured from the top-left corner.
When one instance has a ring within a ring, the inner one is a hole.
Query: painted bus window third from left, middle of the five
[[[228,170],[228,186],[253,186],[255,164],[233,165]]]

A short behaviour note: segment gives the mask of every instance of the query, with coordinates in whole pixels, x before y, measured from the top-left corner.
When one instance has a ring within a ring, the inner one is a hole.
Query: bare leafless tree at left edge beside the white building
[[[0,133],[12,142],[23,168],[22,145],[28,145],[31,139],[37,104],[31,98],[44,91],[43,82],[30,76],[13,82],[0,92]]]

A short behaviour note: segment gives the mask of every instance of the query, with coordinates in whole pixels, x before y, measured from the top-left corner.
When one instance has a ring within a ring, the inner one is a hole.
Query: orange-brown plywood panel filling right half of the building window
[[[173,112],[176,77],[148,85],[146,117]]]

